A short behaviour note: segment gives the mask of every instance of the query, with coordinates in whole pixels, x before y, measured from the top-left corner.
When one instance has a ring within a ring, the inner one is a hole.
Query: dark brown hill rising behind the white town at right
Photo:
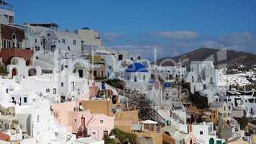
[[[216,66],[227,64],[227,66],[237,66],[237,64],[254,65],[256,64],[256,55],[235,50],[221,50],[213,48],[198,48],[189,53],[179,55],[173,58],[161,58],[156,61],[158,65],[174,66],[174,63],[168,59],[181,62],[188,66],[193,60],[211,60]]]

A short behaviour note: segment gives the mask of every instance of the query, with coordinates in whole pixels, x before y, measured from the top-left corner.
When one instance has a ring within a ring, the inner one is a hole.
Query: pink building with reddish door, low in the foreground
[[[103,138],[114,128],[114,117],[91,114],[89,110],[76,111],[76,107],[76,102],[52,104],[56,121],[66,127],[68,132],[76,134],[77,138]]]

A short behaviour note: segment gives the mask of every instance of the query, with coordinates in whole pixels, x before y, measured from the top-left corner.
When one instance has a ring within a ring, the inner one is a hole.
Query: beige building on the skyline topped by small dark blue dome
[[[76,30],[76,33],[85,45],[102,46],[102,38],[98,32],[84,27],[83,29]]]

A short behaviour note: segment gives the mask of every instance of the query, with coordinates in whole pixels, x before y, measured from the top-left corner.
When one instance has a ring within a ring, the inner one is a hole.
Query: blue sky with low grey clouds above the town
[[[55,22],[96,30],[105,46],[153,57],[196,48],[256,53],[255,0],[8,0],[17,23]]]

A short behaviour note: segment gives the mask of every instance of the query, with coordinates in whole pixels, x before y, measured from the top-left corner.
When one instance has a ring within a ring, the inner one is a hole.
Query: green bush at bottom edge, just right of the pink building
[[[123,132],[118,128],[115,128],[114,130],[112,130],[112,132],[115,135],[115,138],[118,138],[121,143],[128,143],[127,140],[129,140],[131,144],[136,144],[137,135],[133,133]]]

